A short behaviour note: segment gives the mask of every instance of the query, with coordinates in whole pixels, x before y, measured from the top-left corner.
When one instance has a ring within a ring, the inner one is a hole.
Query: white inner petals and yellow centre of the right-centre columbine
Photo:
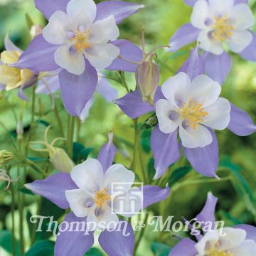
[[[186,73],[166,80],[161,90],[167,100],[156,102],[159,129],[171,134],[178,129],[182,146],[208,146],[213,137],[207,127],[223,130],[230,122],[230,102],[219,97],[221,87],[206,75],[193,81]]]

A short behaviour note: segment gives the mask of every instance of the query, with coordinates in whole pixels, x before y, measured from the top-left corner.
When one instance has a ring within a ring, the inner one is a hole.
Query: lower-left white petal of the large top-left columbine
[[[54,54],[55,63],[60,68],[75,75],[82,75],[85,71],[85,57],[79,51],[70,48],[70,45],[60,46]]]

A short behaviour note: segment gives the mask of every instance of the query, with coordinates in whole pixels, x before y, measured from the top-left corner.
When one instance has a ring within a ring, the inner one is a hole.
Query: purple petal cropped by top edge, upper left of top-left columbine
[[[66,7],[70,0],[35,0],[36,8],[49,19],[55,11],[66,12]]]

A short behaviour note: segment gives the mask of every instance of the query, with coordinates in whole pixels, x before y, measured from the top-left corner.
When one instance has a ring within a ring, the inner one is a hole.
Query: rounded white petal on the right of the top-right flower
[[[255,18],[247,4],[237,4],[228,16],[235,30],[246,30],[255,23]]]

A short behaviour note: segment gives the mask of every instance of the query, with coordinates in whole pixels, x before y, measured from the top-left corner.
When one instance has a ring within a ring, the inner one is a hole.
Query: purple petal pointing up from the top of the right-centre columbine
[[[182,65],[182,67],[178,70],[179,72],[186,73],[189,78],[191,78],[191,81],[196,78],[198,75],[204,75],[206,73],[206,63],[203,58],[198,53],[199,45],[196,46],[195,49],[191,50],[190,57],[186,62]]]

